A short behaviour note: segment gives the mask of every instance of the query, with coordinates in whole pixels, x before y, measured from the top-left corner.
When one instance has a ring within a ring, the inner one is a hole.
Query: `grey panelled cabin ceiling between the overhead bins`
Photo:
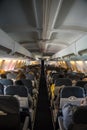
[[[52,56],[87,33],[87,0],[0,0],[0,28],[34,55]]]

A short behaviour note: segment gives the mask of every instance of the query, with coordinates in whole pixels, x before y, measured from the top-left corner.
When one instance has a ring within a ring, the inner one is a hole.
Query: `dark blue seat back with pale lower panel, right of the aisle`
[[[73,105],[80,105],[81,100],[84,99],[84,89],[78,86],[64,87],[60,92],[60,108],[66,103]]]

